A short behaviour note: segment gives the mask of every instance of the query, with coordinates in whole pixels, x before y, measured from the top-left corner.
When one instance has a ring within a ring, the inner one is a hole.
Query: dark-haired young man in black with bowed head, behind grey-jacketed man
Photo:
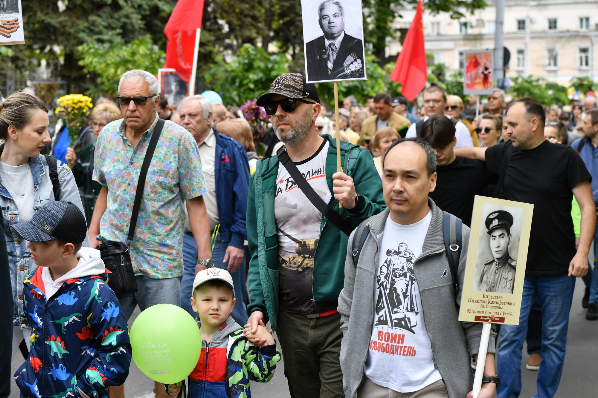
[[[437,161],[436,188],[428,196],[438,207],[471,226],[475,195],[483,194],[491,176],[483,161],[454,155],[454,134],[453,122],[444,115],[432,115],[422,125],[420,136],[432,145]]]

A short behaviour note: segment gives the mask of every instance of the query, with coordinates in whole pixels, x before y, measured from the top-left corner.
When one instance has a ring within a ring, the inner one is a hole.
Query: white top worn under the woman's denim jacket
[[[19,210],[19,222],[29,221],[33,217],[33,174],[29,162],[20,166],[10,166],[2,162],[0,169],[2,185],[8,189]],[[16,191],[14,191],[16,189]],[[25,192],[25,195],[21,195]]]

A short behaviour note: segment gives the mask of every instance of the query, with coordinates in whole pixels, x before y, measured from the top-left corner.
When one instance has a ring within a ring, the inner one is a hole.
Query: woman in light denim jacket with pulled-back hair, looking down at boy
[[[0,206],[13,287],[13,356],[32,329],[24,311],[23,281],[37,267],[30,259],[26,241],[10,225],[28,221],[40,207],[54,200],[69,201],[83,212],[77,184],[66,164],[57,161],[60,198],[54,198],[48,163],[39,151],[50,142],[48,108],[38,97],[24,92],[11,94],[0,104]],[[89,238],[83,242],[89,246]]]

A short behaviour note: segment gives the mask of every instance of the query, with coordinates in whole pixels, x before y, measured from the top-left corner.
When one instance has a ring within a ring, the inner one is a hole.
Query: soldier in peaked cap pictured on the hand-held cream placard
[[[481,292],[512,293],[517,261],[509,256],[513,216],[505,210],[497,210],[486,218],[490,235],[490,251],[494,258],[484,263],[480,277]]]

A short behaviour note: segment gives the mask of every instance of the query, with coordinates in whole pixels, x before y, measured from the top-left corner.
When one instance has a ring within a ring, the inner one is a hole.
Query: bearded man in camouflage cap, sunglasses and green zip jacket
[[[258,161],[249,182],[246,327],[251,331],[270,321],[276,329],[292,397],[341,397],[343,331],[337,307],[347,234],[385,207],[382,181],[367,149],[344,141],[337,149],[331,136],[318,135],[318,90],[302,74],[278,76],[257,105],[264,106],[285,146]],[[338,150],[342,173],[336,172]],[[347,228],[339,228],[334,216],[323,216],[298,188],[288,172],[292,164]]]

